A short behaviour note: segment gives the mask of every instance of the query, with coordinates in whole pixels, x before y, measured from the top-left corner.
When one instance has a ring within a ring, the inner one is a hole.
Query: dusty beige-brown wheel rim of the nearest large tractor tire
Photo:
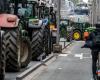
[[[25,42],[21,43],[21,63],[25,62],[28,57],[28,45]]]

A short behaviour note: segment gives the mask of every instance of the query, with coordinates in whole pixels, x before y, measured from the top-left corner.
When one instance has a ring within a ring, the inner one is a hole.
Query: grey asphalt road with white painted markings
[[[74,42],[33,80],[92,80],[91,51],[82,49],[84,42]]]

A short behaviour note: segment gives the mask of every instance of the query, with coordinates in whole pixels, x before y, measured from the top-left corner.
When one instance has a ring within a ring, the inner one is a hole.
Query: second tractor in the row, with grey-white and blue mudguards
[[[29,5],[36,5],[33,0],[27,1]],[[40,60],[49,55],[52,51],[52,37],[51,31],[49,27],[49,15],[48,15],[48,7],[46,3],[42,2],[32,7],[31,9],[35,12],[35,18],[29,17],[29,34],[31,37],[31,49],[32,49],[32,60]],[[37,18],[36,18],[37,17]],[[42,22],[42,25],[34,26],[33,24],[37,24],[36,21]],[[32,22],[34,22],[32,24]],[[43,56],[44,55],[44,56]]]

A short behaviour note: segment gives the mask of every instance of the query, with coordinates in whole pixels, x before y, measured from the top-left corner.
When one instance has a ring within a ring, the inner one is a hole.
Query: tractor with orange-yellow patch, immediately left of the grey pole
[[[46,3],[45,9],[44,9],[44,14],[45,14],[45,19],[48,20],[48,29],[49,29],[49,53],[53,50],[53,44],[56,44],[56,38],[57,38],[57,25],[56,25],[56,10],[52,1],[49,0],[48,3]]]

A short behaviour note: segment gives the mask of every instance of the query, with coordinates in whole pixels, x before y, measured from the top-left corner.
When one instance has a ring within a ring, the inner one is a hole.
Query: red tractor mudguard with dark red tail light
[[[14,28],[18,27],[19,19],[16,15],[0,14],[0,27]]]

